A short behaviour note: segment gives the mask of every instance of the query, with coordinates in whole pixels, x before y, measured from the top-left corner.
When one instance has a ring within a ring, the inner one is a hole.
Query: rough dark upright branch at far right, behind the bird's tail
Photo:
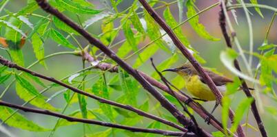
[[[229,38],[229,35],[227,34],[227,29],[226,29],[226,20],[225,20],[225,14],[223,11],[223,5],[224,3],[220,4],[220,12],[219,12],[219,23],[220,23],[220,28],[221,28],[221,32],[223,33],[223,36],[225,38],[225,42],[227,47],[232,48],[232,42],[231,39]],[[236,32],[232,32],[232,34],[234,35]],[[241,71],[240,66],[238,64],[238,60],[234,60],[234,66],[238,71]],[[245,95],[247,97],[251,97],[254,99],[254,97],[252,96],[251,92],[249,91],[249,88],[245,82],[245,80],[241,77],[238,77],[240,79],[240,82],[242,82],[242,87],[243,87],[243,92],[245,92]],[[267,136],[267,132],[265,131],[265,127],[263,125],[263,121],[260,119],[260,114],[258,113],[258,108],[256,106],[255,103],[255,99],[251,104],[251,110],[252,113],[254,115],[254,118],[256,119],[256,123],[258,125],[258,128],[260,129],[260,134],[262,134],[263,137]]]

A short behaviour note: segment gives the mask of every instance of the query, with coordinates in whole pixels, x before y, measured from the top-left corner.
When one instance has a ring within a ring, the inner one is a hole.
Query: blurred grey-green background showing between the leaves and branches
[[[90,0],[88,0],[88,1],[90,1]],[[96,5],[96,8],[104,7],[103,1],[90,1],[90,2],[93,3],[94,5]],[[167,2],[170,2],[170,1],[167,1]],[[196,5],[200,10],[202,10],[203,8],[206,8],[209,5],[212,5],[213,3],[216,3],[216,2],[217,2],[216,0],[210,0],[210,1],[197,0]],[[245,2],[249,3],[249,1],[245,1]],[[10,12],[17,12],[18,10],[23,8],[26,5],[26,3],[27,2],[25,0],[11,0],[8,3],[8,5],[6,5],[5,9],[9,10]],[[275,0],[258,1],[258,3],[265,4],[265,5],[271,5],[272,7],[277,8],[277,1],[275,1]],[[130,4],[132,4],[132,1],[123,0],[123,2],[118,6],[119,11],[125,10],[126,8],[128,8],[130,6]],[[158,5],[161,5],[161,3],[158,3],[155,6],[158,6]],[[178,18],[177,4],[175,3],[173,5],[170,5],[170,8],[171,8],[172,14],[174,14],[174,16],[176,18]],[[161,13],[161,15],[162,15],[164,9],[165,8],[161,8],[156,11],[158,13]],[[263,40],[265,38],[267,27],[269,25],[272,15],[274,14],[274,12],[272,12],[270,10],[265,10],[265,9],[260,9],[260,10],[263,13],[264,18],[261,18],[256,13],[254,8],[249,8],[249,12],[251,12],[253,14],[253,15],[251,15],[251,19],[252,19],[253,28],[254,28],[254,33],[253,33],[254,34],[254,51],[256,51],[256,52],[258,52],[258,47],[260,47],[263,44]],[[38,10],[36,12],[38,14],[45,14],[41,10]],[[185,6],[184,6],[184,12],[186,12]],[[234,77],[234,75],[232,73],[230,73],[225,68],[225,66],[223,66],[223,64],[222,64],[222,62],[220,62],[220,58],[219,58],[220,51],[225,50],[226,45],[225,45],[223,36],[221,34],[220,27],[218,25],[218,12],[219,12],[219,7],[217,6],[216,8],[213,8],[212,10],[209,10],[209,11],[201,14],[200,21],[201,21],[201,23],[203,23],[203,25],[205,25],[207,31],[210,34],[212,34],[212,36],[215,36],[216,38],[221,38],[220,41],[212,42],[212,41],[200,38],[196,34],[196,32],[194,32],[194,30],[188,23],[185,23],[184,25],[182,25],[182,29],[183,29],[185,36],[187,36],[187,38],[191,42],[192,47],[194,47],[197,51],[199,51],[200,55],[207,61],[207,63],[204,64],[204,66],[208,66],[210,68],[216,68],[217,71],[219,71],[220,73],[224,73],[227,77]],[[6,14],[4,11],[2,11],[0,13],[1,16],[3,16],[4,14]],[[76,16],[74,14],[70,14],[69,12],[65,12],[65,14],[70,16],[70,18],[76,19]],[[246,21],[245,13],[243,12],[243,9],[237,9],[236,15],[238,16],[238,25],[233,20],[233,25],[236,29],[236,34],[240,40],[241,45],[243,46],[243,49],[249,50],[249,29],[247,26],[247,21]],[[89,18],[89,17],[90,16],[81,16],[81,20],[85,21],[85,18]],[[185,18],[187,18],[187,17],[184,14],[183,20]],[[30,21],[32,23],[36,23],[38,21],[38,19],[39,18],[31,17]],[[88,31],[92,34],[96,34],[96,35],[100,34],[101,33],[101,23],[102,23],[102,21],[98,21],[98,22],[94,23],[94,25],[89,27]],[[118,27],[119,21],[115,21],[114,25],[115,25],[115,27]],[[3,37],[3,35],[4,35],[4,31],[2,29],[0,36]],[[274,24],[269,33],[269,38],[268,38],[269,43],[276,44],[277,43],[276,36],[277,36],[277,21],[274,21]],[[124,38],[125,37],[124,37],[123,33],[121,32],[119,34],[119,36],[116,37],[116,40],[114,42],[118,42],[120,40],[123,40]],[[78,40],[84,46],[88,44],[88,42],[81,37],[79,37]],[[145,41],[145,42],[141,43],[140,45],[145,45],[147,42],[149,42],[149,41]],[[68,51],[68,49],[66,49],[64,47],[57,47],[57,44],[55,42],[53,42],[52,40],[46,40],[44,46],[45,46],[45,55],[49,55],[50,53],[54,53],[57,51]],[[116,51],[116,49],[117,48],[114,48],[113,50]],[[32,50],[32,45],[28,41],[26,42],[25,46],[23,47],[23,54],[24,54],[26,66],[28,66],[29,64],[32,64],[32,62],[36,61],[35,55]],[[3,50],[0,50],[0,55],[3,55],[4,57],[8,57],[6,52]],[[158,64],[158,62],[162,62],[163,60],[165,60],[169,57],[170,57],[170,54],[167,54],[163,51],[158,51],[153,56],[156,64]],[[135,58],[130,58],[130,60],[127,60],[127,62],[132,64],[134,62]],[[187,60],[185,58],[183,58],[181,55],[179,55],[179,60],[178,60],[178,62],[176,62],[176,64],[174,66],[179,66],[179,65],[183,64],[184,62],[187,62]],[[46,60],[46,63],[48,64],[48,69],[45,69],[41,65],[36,65],[32,68],[32,70],[43,73],[45,75],[55,77],[57,79],[60,79],[62,77],[65,77],[66,75],[70,75],[71,73],[74,73],[75,71],[82,69],[81,58],[76,57],[74,55],[59,55],[55,58],[50,58],[50,59]],[[242,63],[240,63],[240,64],[242,64]],[[253,65],[256,66],[257,64],[258,64],[258,60],[256,58],[254,58]],[[140,66],[139,70],[144,71],[145,73],[148,73],[150,75],[154,72],[150,62],[146,62],[145,64]],[[108,73],[107,77],[112,77],[112,75],[114,75],[114,74]],[[172,77],[175,77],[176,75],[168,73],[165,76],[168,77],[169,79],[171,79]],[[93,74],[90,75],[90,77],[93,77]],[[0,85],[0,92],[3,91],[3,89],[6,87],[6,85],[9,82],[10,81],[5,82],[5,84]],[[93,82],[94,82],[94,80],[92,80],[92,82],[87,85],[91,86],[90,84],[92,84]],[[252,84],[249,83],[249,86],[252,86]],[[17,103],[17,104],[24,103],[23,100],[21,100],[21,99],[19,99],[19,97],[17,97],[14,89],[15,88],[13,85],[10,88],[10,90],[8,90],[6,95],[3,97],[3,100],[9,101],[12,103]],[[54,92],[57,92],[62,89],[63,88],[52,88],[48,92],[46,92],[45,95],[46,95],[46,97],[50,97],[51,95],[54,94]],[[39,88],[39,90],[42,90],[42,88]],[[143,99],[145,99],[145,97],[147,97],[144,92],[145,92],[145,90],[142,90],[142,89],[140,90],[140,93],[138,95],[138,100],[143,101]],[[121,94],[121,93],[112,92],[111,98],[116,99],[117,94]],[[261,94],[260,97],[261,97],[261,100],[263,103],[261,105],[262,107],[260,107],[260,108],[262,108],[262,109],[260,109],[260,115],[265,124],[265,128],[267,129],[269,136],[276,136],[277,113],[275,115],[269,114],[265,109],[263,109],[263,107],[271,105],[271,106],[275,106],[275,108],[276,108],[277,103],[275,101],[272,101],[265,95]],[[237,92],[236,95],[234,95],[234,97],[232,97],[232,108],[236,109],[238,102],[243,98],[245,98],[245,95],[242,92]],[[152,105],[150,104],[150,106],[154,106],[154,104],[156,104],[156,101],[154,101],[153,98],[150,98],[150,99],[153,100]],[[88,99],[89,107],[97,108],[98,105],[97,105],[96,101],[91,101],[91,100],[92,99]],[[55,97],[54,99],[52,99],[50,101],[50,103],[52,103],[57,108],[63,108],[63,106],[65,105],[65,100],[63,99],[63,95],[59,95],[58,97]],[[214,106],[214,102],[204,103],[203,106],[207,110],[211,110],[212,107]],[[67,112],[69,113],[70,111],[74,111],[77,108],[78,108],[78,105],[74,104],[67,110]],[[161,112],[165,112],[161,108],[158,108],[158,109],[160,109]],[[155,110],[152,110],[150,112],[156,114]],[[221,108],[219,107],[214,112],[214,116],[216,116],[216,118],[220,119],[220,113],[221,113]],[[39,123],[39,125],[42,125],[43,127],[47,127],[47,128],[52,128],[55,121],[57,121],[56,118],[53,118],[50,116],[43,116],[40,114],[31,114],[31,113],[25,113],[25,112],[21,112],[21,114],[24,114],[25,116],[28,117],[28,119],[31,119],[35,123]],[[203,127],[203,129],[206,129],[208,132],[216,131],[216,129],[214,129],[214,127],[212,127],[211,125],[205,124],[203,119],[199,118],[199,116],[197,114],[194,114],[194,115],[196,116],[197,121],[199,122],[201,127]],[[256,122],[254,121],[251,112],[249,114],[249,123],[257,128]],[[143,125],[143,126],[147,125],[147,119],[146,120],[144,119],[138,125]],[[32,136],[48,136],[48,134],[49,134],[49,132],[37,132],[37,133],[36,132],[28,132],[25,130],[8,127],[6,125],[2,125],[1,128],[5,128],[8,131],[10,131],[10,133],[12,133],[12,136],[30,136],[30,137],[32,137]],[[72,125],[72,126],[60,127],[54,136],[68,136],[68,137],[82,136],[83,135],[82,128],[83,128],[83,124],[81,124],[81,123],[77,124],[77,125]],[[95,131],[101,131],[102,129],[105,129],[105,128],[92,125],[92,126],[90,126],[90,129],[92,130],[92,132],[95,132]],[[256,132],[254,129],[249,129],[249,128],[248,128],[247,134],[248,134],[248,136],[260,136],[259,132]],[[6,134],[1,134],[1,132],[0,132],[0,136],[6,136]],[[126,136],[126,135],[118,134],[116,136]],[[139,136],[139,134],[138,134],[138,136]]]

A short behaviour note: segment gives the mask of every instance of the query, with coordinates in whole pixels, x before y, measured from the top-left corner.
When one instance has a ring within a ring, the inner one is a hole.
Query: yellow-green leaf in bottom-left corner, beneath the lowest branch
[[[8,119],[8,117],[14,112],[14,110],[0,106],[0,119],[2,121]],[[5,122],[7,125],[11,127],[17,127],[19,129],[25,129],[30,132],[47,132],[50,129],[45,129],[44,127],[41,127],[37,125],[36,123],[28,120],[25,118],[25,116],[19,114],[18,112],[12,115],[8,121]]]

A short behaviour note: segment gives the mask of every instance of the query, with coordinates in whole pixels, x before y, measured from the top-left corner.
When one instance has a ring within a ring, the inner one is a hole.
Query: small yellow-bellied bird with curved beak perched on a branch
[[[227,83],[233,82],[232,79],[229,79],[228,77],[218,75],[207,69],[204,70],[209,77],[211,77],[214,84],[216,84],[216,88],[218,88],[220,92],[225,92],[225,90],[227,90]],[[192,93],[194,97],[205,101],[216,100],[212,90],[209,89],[209,86],[207,86],[201,75],[199,75],[196,69],[194,69],[194,66],[191,64],[184,64],[178,68],[165,69],[163,72],[164,71],[172,71],[178,73],[178,75],[181,75],[181,77],[185,79],[185,88],[187,88],[187,90]]]

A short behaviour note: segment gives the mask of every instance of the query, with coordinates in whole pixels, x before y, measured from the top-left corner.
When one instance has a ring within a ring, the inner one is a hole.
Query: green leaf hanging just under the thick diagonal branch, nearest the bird
[[[121,68],[119,69],[119,79],[124,91],[125,99],[127,99],[127,103],[132,106],[136,106],[136,95],[139,90],[137,88],[138,85],[136,85],[132,77],[130,77],[130,75]]]

